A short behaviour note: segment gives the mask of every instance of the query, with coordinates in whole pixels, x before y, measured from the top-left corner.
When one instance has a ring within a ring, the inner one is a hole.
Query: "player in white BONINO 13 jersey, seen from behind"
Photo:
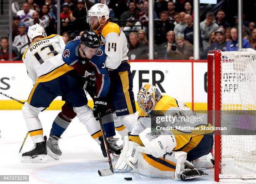
[[[29,27],[28,37],[32,44],[25,51],[22,59],[34,86],[22,112],[35,146],[31,151],[22,154],[21,161],[46,162],[46,136],[43,137],[38,114],[49,107],[54,98],[62,96],[68,101],[77,113],[79,121],[87,126],[89,133],[100,131],[100,124],[95,120],[92,109],[87,106],[83,89],[76,83],[74,68],[62,60],[62,52],[65,48],[62,37],[60,35],[46,37],[44,28],[38,24]],[[95,140],[100,144],[98,138]]]

